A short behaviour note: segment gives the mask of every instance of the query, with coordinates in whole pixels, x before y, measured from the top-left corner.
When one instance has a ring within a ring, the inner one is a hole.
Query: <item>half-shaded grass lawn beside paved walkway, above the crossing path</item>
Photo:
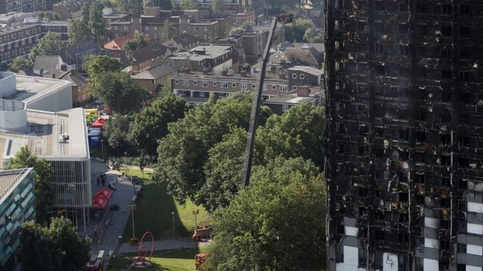
[[[130,168],[128,175],[138,176],[142,179],[140,170]],[[185,206],[179,205],[173,196],[166,193],[166,185],[158,185],[152,182],[152,173],[144,171],[143,195],[136,201],[137,210],[134,211],[134,229],[136,238],[141,238],[146,231],[153,233],[155,240],[173,237],[173,215],[174,213],[174,234],[178,237],[191,236],[195,227],[193,210],[199,210],[197,215],[198,225],[210,224],[211,217],[201,206],[196,206],[187,201]],[[132,216],[129,217],[125,227],[124,240],[128,242],[132,238]]]

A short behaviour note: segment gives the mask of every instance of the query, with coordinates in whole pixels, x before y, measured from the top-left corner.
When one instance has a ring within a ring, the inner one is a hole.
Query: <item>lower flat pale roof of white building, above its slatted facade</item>
[[[0,159],[10,159],[22,146],[50,160],[85,159],[89,155],[86,134],[82,108],[57,113],[28,109],[23,132],[0,131]],[[63,135],[65,140],[61,139]]]

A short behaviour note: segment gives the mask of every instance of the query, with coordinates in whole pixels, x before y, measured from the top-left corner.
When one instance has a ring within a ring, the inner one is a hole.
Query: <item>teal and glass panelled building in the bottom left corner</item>
[[[13,270],[18,233],[24,221],[35,219],[34,170],[0,171],[0,270]]]

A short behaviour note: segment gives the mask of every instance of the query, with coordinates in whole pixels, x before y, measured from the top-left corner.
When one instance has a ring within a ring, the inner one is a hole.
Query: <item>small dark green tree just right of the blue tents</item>
[[[131,147],[129,131],[131,130],[131,121],[128,117],[122,115],[114,115],[109,118],[102,128],[102,137],[106,139],[109,148],[117,155],[122,155]]]

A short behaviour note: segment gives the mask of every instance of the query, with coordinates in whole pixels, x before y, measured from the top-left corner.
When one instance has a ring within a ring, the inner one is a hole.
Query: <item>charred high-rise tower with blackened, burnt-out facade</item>
[[[481,271],[483,2],[325,11],[327,269]]]

